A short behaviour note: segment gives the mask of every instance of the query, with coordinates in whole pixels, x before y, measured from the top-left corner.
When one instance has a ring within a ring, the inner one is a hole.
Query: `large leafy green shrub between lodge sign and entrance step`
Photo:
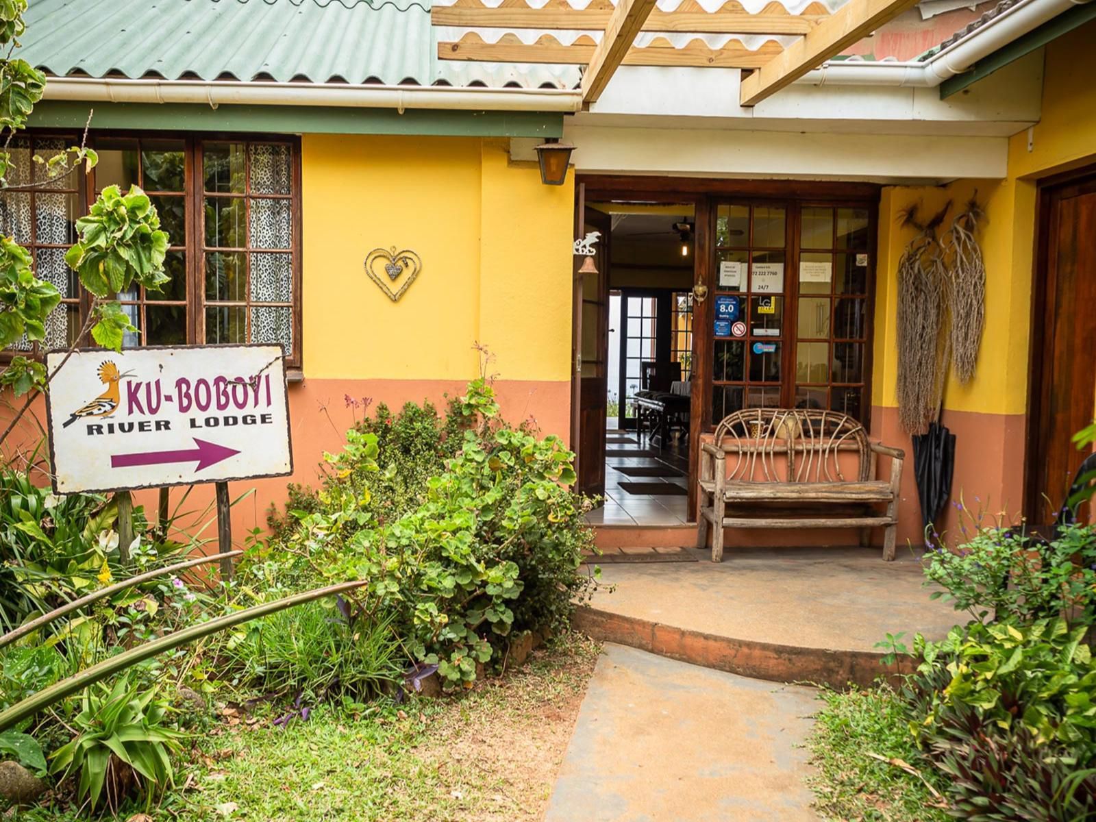
[[[470,683],[515,630],[557,629],[591,579],[589,503],[571,491],[573,455],[499,419],[486,379],[443,419],[427,404],[377,416],[326,455],[326,478],[296,527],[253,552],[255,572],[367,580],[364,607],[390,618],[413,661]]]

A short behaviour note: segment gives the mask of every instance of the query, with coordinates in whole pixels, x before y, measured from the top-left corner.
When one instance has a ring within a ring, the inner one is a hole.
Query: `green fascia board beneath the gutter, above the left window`
[[[561,137],[559,112],[489,112],[436,109],[103,103],[44,100],[28,125],[79,128],[94,109],[92,128],[282,134],[402,134],[437,137]]]

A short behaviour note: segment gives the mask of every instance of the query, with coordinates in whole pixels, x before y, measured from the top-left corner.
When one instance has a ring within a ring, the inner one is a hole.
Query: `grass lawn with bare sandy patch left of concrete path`
[[[176,789],[149,819],[539,819],[598,651],[570,635],[459,697],[372,706],[357,718],[321,707],[285,730],[271,724],[275,713],[219,723],[176,768]]]

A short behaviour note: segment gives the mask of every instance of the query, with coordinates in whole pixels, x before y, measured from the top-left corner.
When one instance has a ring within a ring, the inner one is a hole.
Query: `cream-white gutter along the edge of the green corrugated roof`
[[[564,89],[482,89],[449,85],[241,82],[239,80],[130,80],[50,77],[46,100],[112,103],[317,105],[361,109],[578,112],[582,92]]]

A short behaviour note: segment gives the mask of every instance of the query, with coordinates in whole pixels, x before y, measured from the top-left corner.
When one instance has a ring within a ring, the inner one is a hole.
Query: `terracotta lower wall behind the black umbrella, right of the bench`
[[[949,543],[962,541],[973,522],[1002,517],[1019,522],[1024,502],[1025,414],[991,414],[945,409],[943,423],[956,435],[951,503],[937,522]],[[913,443],[899,423],[898,409],[871,408],[871,437],[905,450],[899,503],[899,546],[923,545],[921,503],[913,471]],[[963,509],[960,511],[959,505]],[[878,535],[877,535],[878,537]]]

